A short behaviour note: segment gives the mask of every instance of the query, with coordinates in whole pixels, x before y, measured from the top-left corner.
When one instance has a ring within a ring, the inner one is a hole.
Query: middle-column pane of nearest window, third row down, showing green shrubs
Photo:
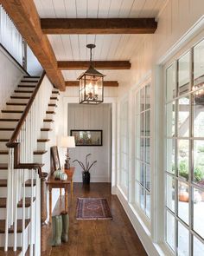
[[[185,180],[188,180],[188,146],[188,140],[178,140],[178,172],[180,176],[185,178]]]

